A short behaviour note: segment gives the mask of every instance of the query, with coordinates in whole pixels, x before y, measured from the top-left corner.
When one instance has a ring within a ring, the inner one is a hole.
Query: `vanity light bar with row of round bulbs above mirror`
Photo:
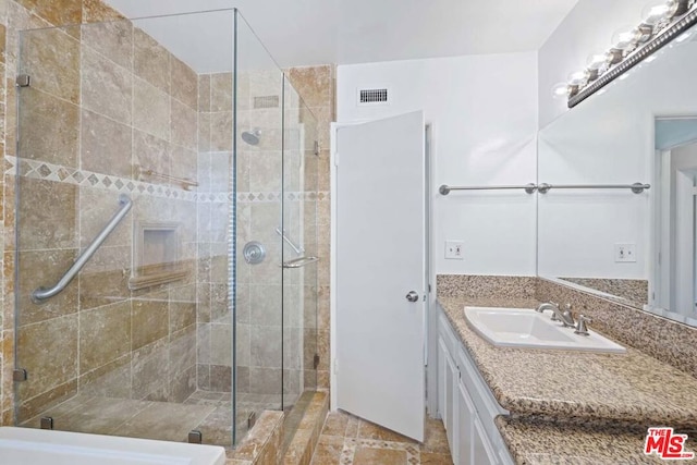
[[[590,56],[583,71],[568,76],[565,89],[555,85],[553,95],[566,95],[568,108],[573,108],[671,40],[687,40],[692,34],[687,29],[697,23],[697,0],[653,1],[641,17],[636,27],[615,33],[606,52]]]

